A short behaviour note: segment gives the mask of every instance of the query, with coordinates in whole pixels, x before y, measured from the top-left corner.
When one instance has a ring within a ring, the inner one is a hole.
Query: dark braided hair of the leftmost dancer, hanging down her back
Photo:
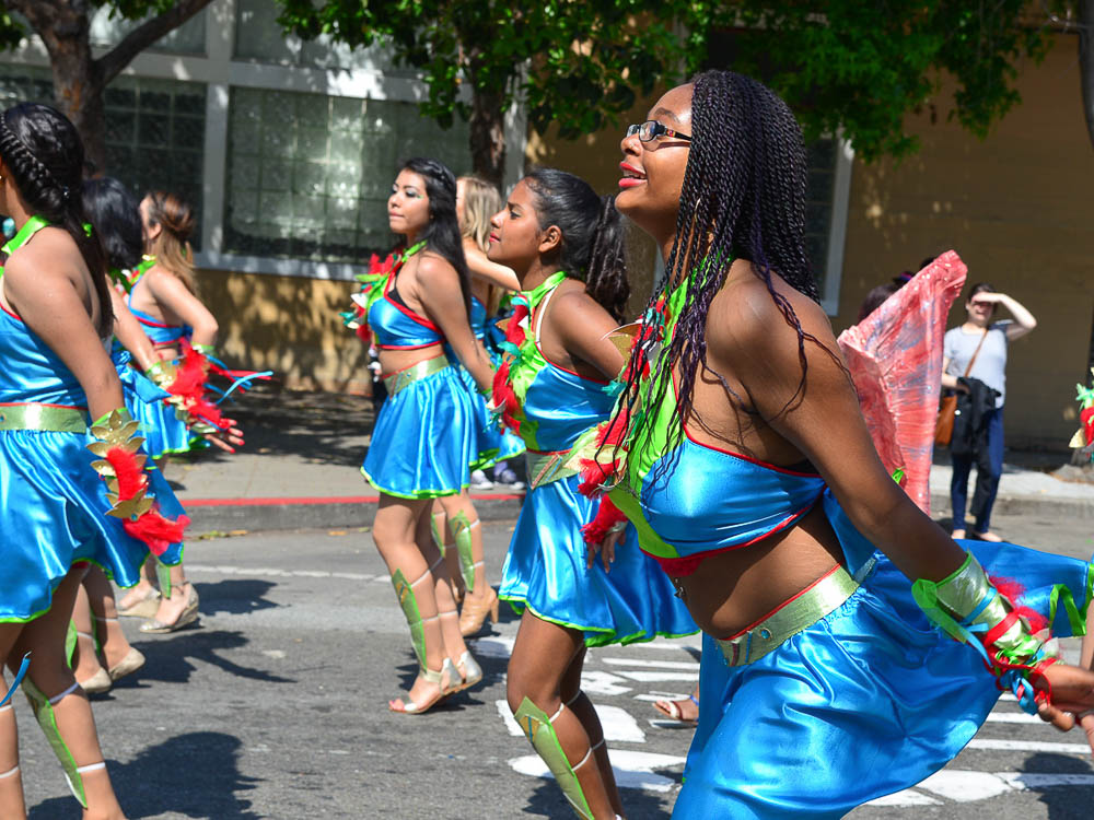
[[[106,337],[114,324],[106,255],[94,232],[83,230],[83,142],[75,126],[48,105],[14,105],[0,115],[0,157],[31,211],[75,242],[98,296],[98,335]]]

